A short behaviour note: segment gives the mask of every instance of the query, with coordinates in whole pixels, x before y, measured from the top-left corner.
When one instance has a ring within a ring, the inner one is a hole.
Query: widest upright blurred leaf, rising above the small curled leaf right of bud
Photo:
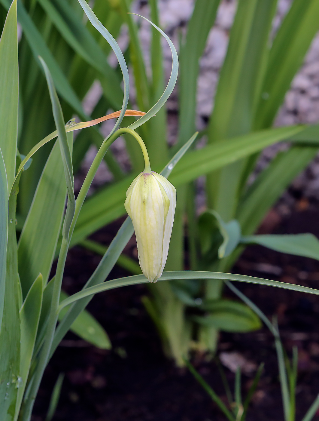
[[[252,129],[276,4],[277,0],[238,2],[210,119],[209,143],[221,139],[227,143],[229,137]],[[245,161],[235,162],[207,178],[208,205],[226,222],[235,216],[245,165]]]

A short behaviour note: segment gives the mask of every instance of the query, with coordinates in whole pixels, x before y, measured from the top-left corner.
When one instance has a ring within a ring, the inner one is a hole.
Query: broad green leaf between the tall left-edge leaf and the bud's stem
[[[67,133],[72,151],[73,133]],[[58,141],[50,153],[18,242],[18,264],[24,297],[37,273],[46,285],[60,235],[66,181]]]

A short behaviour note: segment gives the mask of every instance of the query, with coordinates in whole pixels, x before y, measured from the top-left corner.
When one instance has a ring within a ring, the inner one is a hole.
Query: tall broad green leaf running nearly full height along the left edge
[[[21,301],[16,253],[16,195],[18,184],[11,190],[16,168],[18,131],[18,40],[16,1],[8,12],[0,40],[0,176],[1,176],[1,251],[0,251],[0,414],[12,421],[17,387],[20,386],[20,321]],[[18,181],[17,181],[18,182]],[[8,183],[8,184],[4,184]],[[8,242],[7,242],[8,238]],[[6,259],[6,264],[4,264]],[[5,282],[5,285],[4,285]]]

